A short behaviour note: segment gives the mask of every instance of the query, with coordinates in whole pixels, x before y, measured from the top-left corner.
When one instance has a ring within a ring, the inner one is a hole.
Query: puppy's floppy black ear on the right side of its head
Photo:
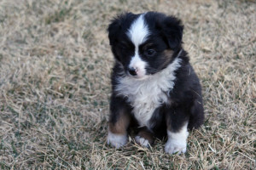
[[[164,20],[161,20],[161,33],[166,38],[166,42],[169,48],[179,48],[183,39],[183,25],[181,20],[173,16],[166,16]]]

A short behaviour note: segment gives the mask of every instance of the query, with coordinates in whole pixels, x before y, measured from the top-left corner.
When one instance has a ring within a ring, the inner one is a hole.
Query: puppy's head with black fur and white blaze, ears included
[[[143,79],[172,63],[181,49],[183,26],[165,14],[121,14],[108,26],[108,38],[115,59],[125,73]]]

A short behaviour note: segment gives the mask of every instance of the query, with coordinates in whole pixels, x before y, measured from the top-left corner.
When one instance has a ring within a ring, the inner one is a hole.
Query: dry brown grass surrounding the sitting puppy
[[[123,11],[183,20],[201,78],[206,122],[185,155],[106,145],[106,28]],[[246,1],[0,1],[0,169],[255,169],[256,3]]]

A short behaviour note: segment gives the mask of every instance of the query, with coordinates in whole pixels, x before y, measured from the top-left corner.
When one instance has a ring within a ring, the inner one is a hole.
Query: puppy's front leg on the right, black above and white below
[[[168,154],[181,154],[187,150],[188,116],[183,110],[174,109],[167,115],[167,135],[165,151]]]

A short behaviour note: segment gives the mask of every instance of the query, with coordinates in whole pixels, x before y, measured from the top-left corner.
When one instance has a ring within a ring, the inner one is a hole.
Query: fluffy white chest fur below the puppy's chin
[[[174,87],[176,71],[180,67],[181,59],[174,59],[166,69],[146,79],[140,80],[133,77],[120,77],[119,85],[115,87],[118,95],[128,98],[133,107],[132,113],[140,126],[147,126],[154,110],[167,102],[168,91]]]

